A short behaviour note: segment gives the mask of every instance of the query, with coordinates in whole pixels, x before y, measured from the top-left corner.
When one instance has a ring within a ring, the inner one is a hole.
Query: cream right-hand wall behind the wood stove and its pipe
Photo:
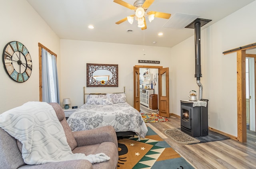
[[[233,136],[237,136],[236,53],[222,52],[256,42],[255,9],[256,1],[201,30],[202,97],[209,99],[209,126]],[[188,99],[190,90],[198,92],[194,78],[194,36],[171,50],[173,105],[170,108],[179,114],[179,100]]]

